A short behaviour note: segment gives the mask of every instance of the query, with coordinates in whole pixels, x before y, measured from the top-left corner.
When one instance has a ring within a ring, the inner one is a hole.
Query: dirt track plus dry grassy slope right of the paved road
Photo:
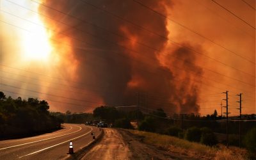
[[[240,160],[244,159],[246,153],[239,148],[211,148],[171,136],[138,132],[125,129],[104,129],[102,139],[88,149],[82,159]]]

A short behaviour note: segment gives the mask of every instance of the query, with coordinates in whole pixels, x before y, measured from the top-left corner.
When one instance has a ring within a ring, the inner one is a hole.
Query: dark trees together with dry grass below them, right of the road
[[[154,143],[159,147],[181,150],[181,152],[191,152],[200,156],[211,155],[215,159],[230,157],[232,159],[243,159],[244,155],[255,157],[256,129],[253,129],[255,122],[241,122],[242,143],[239,149],[238,123],[230,122],[228,132],[229,145],[238,148],[237,154],[230,148],[226,148],[226,122],[223,117],[218,116],[216,110],[212,115],[199,116],[191,113],[185,115],[180,120],[179,115],[167,116],[164,110],[159,108],[151,113],[142,113],[136,108],[131,111],[118,110],[115,107],[100,106],[93,110],[93,113],[54,113],[68,123],[85,123],[96,125],[99,120],[104,120],[113,127],[123,129],[137,129],[133,133],[145,136],[148,143]],[[255,115],[244,116],[245,120],[255,119]],[[219,120],[219,121],[216,121]],[[139,122],[139,125],[137,125]],[[139,130],[139,131],[138,131]],[[145,132],[140,132],[145,131]],[[145,135],[144,135],[145,134]],[[147,139],[148,138],[148,139]],[[165,140],[165,138],[167,138]],[[234,147],[233,147],[234,148]],[[240,155],[243,152],[243,156]],[[218,157],[219,156],[219,157]]]

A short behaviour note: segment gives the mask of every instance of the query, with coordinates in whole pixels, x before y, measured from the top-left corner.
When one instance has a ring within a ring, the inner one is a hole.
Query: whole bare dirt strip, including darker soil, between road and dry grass
[[[82,159],[191,159],[145,144],[142,140],[123,129],[105,128],[102,140]]]

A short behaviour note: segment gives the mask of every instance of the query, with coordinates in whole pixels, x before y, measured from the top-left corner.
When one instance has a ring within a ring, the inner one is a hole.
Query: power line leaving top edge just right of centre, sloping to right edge
[[[236,53],[236,52],[234,52],[234,51],[231,51],[230,49],[228,49],[228,48],[225,47],[224,45],[218,44],[218,42],[215,42],[214,40],[211,40],[210,38],[207,38],[206,36],[204,36],[204,35],[198,33],[197,31],[195,31],[195,30],[193,30],[193,29],[190,29],[190,28],[184,26],[183,24],[181,24],[180,22],[177,22],[176,20],[170,19],[170,17],[167,17],[167,16],[164,15],[163,13],[157,12],[156,10],[154,10],[154,9],[150,8],[149,6],[147,6],[147,5],[143,4],[143,3],[141,3],[140,1],[136,1],[136,0],[133,0],[133,1],[136,2],[136,3],[138,3],[138,4],[140,4],[141,6],[143,6],[143,7],[145,7],[145,8],[147,8],[148,10],[151,10],[152,12],[157,13],[157,15],[160,15],[161,17],[164,17],[164,18],[166,18],[166,19],[169,19],[169,20],[171,20],[172,22],[174,22],[175,24],[178,24],[179,26],[182,26],[182,28],[188,29],[189,31],[195,33],[196,35],[199,35],[199,36],[201,36],[202,38],[205,38],[205,40],[209,40],[209,41],[212,42],[213,44],[216,44],[216,45],[222,47],[223,49],[225,49],[225,50],[227,50],[227,51],[229,51],[229,52],[232,52],[233,54],[236,54],[236,56],[239,56],[240,58],[243,58],[244,60],[250,61],[250,63],[255,64],[254,61],[251,61],[251,60],[248,60],[247,58],[244,58],[243,56],[241,56],[241,54],[238,54],[238,53]]]

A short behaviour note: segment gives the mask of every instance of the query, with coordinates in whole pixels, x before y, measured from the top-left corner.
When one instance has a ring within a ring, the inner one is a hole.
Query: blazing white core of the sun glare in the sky
[[[22,35],[22,57],[26,61],[47,61],[52,51],[49,33],[38,15],[29,19],[33,24],[28,26],[29,33]]]

